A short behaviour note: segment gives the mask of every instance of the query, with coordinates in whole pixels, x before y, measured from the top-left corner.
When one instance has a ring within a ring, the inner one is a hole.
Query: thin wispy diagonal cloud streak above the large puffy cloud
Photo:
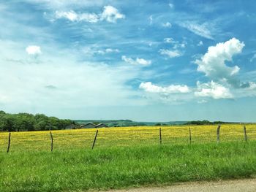
[[[187,28],[189,31],[191,31],[194,34],[197,34],[201,37],[205,37],[206,39],[214,39],[211,35],[211,31],[209,30],[208,23],[203,23],[201,25],[193,22],[184,22],[179,23],[180,26]]]

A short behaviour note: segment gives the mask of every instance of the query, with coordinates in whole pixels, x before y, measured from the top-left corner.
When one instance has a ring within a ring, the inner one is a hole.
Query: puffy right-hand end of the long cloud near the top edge
[[[116,23],[118,19],[124,19],[125,15],[118,12],[118,9],[110,5],[105,6],[101,15],[102,20],[107,20],[110,23]]]

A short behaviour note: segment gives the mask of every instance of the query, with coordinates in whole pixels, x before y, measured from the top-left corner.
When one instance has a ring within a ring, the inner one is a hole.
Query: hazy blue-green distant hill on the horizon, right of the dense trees
[[[168,121],[168,122],[137,122],[132,120],[74,120],[80,125],[86,123],[104,123],[109,127],[122,127],[122,126],[171,126],[171,125],[183,125],[187,121]]]

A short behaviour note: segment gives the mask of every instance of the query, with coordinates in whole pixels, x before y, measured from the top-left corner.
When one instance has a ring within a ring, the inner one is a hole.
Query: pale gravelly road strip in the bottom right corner
[[[173,186],[113,190],[111,192],[256,192],[256,179],[180,183]]]

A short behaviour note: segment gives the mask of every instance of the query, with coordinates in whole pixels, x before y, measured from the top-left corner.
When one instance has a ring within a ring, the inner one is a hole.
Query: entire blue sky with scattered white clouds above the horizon
[[[256,122],[255,1],[0,0],[0,110]]]

